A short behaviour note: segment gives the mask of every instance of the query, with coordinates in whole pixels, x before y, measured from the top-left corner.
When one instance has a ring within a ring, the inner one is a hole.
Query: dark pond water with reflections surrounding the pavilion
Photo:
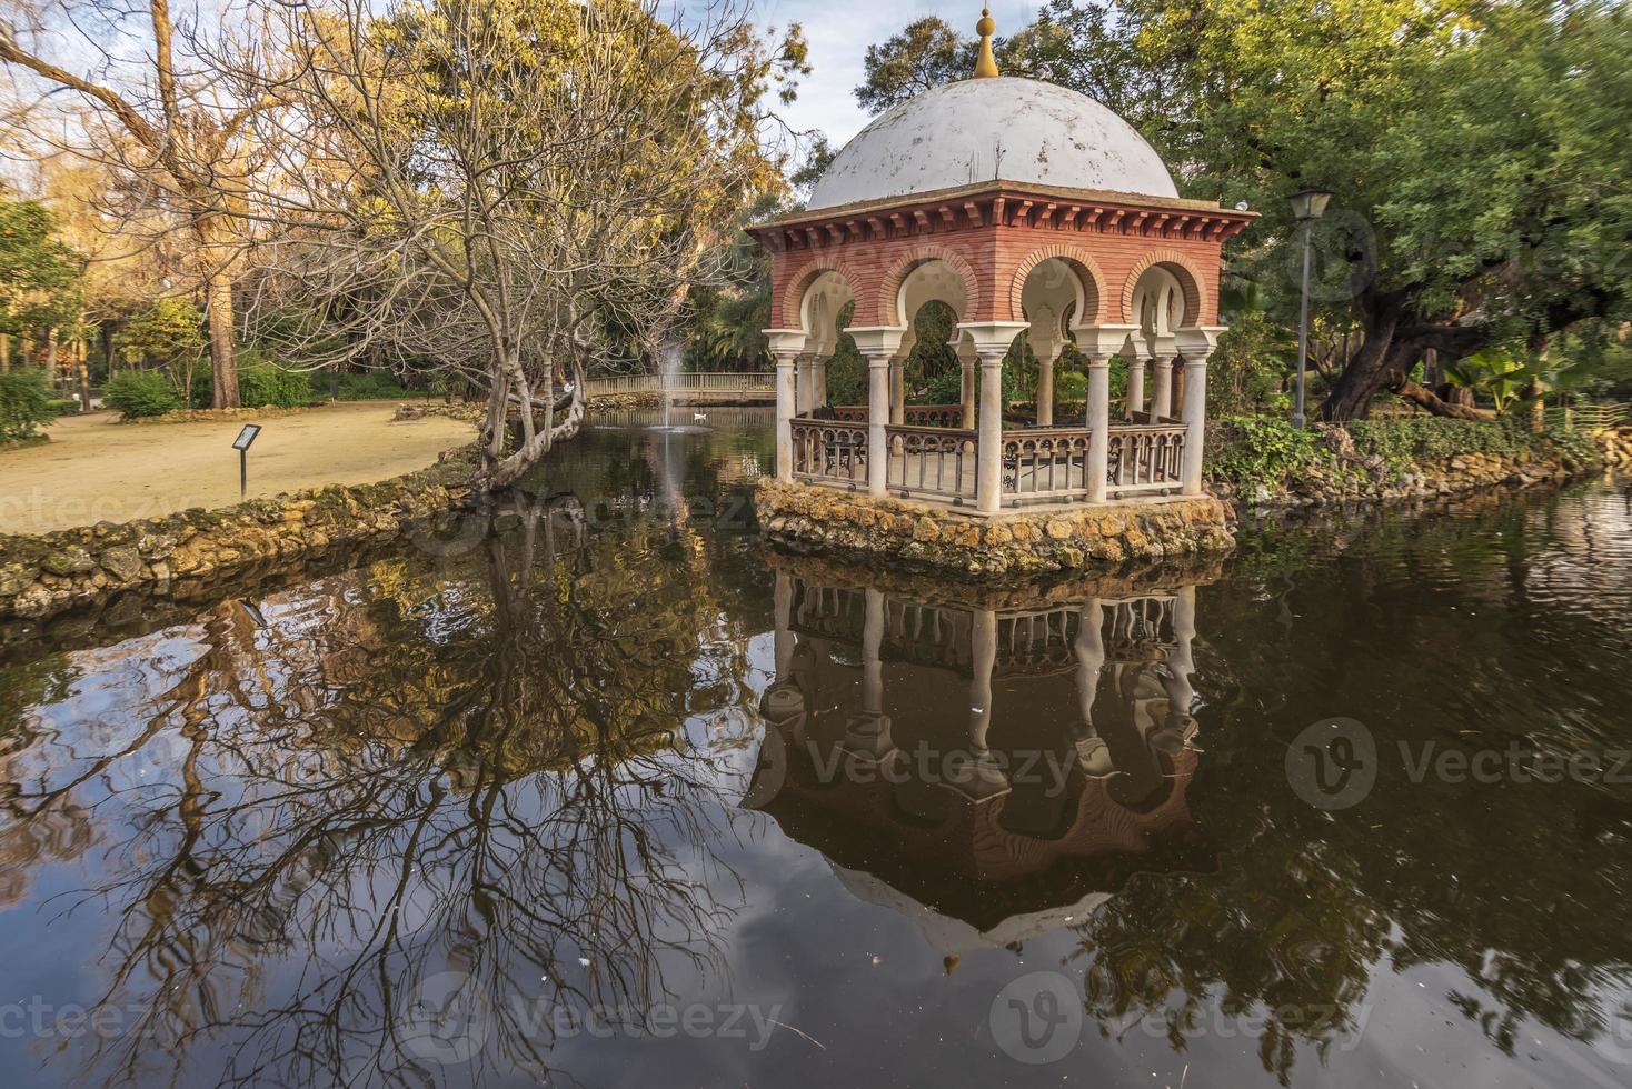
[[[991,593],[708,416],[5,647],[5,1082],[1632,1082],[1625,491]]]

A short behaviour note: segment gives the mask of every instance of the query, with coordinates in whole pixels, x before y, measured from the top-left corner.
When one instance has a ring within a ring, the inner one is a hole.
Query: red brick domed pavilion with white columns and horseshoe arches
[[[999,75],[994,29],[984,13],[974,78],[880,116],[808,209],[752,228],[772,254],[777,479],[973,518],[1201,496],[1221,249],[1255,215],[1180,197],[1155,150],[1095,99]],[[956,315],[958,404],[906,403],[902,364],[930,302]],[[868,362],[865,406],[827,403],[840,334]],[[1036,359],[1035,406],[1002,395],[1018,337]],[[1067,342],[1087,370],[1069,419],[1054,404]],[[1113,355],[1128,365],[1116,406]]]

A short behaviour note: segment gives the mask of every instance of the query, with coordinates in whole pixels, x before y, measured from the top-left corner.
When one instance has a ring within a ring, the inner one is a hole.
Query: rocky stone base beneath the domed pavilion
[[[1235,546],[1234,512],[1213,497],[981,518],[901,499],[764,481],[761,533],[795,553],[847,553],[974,577],[1110,567]]]

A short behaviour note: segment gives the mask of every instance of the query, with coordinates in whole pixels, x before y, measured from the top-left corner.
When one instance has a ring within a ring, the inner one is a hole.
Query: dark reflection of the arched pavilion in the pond
[[[948,600],[777,558],[752,797],[947,949],[1080,918],[1139,871],[1211,871],[1195,584]],[[778,743],[780,742],[780,743]]]

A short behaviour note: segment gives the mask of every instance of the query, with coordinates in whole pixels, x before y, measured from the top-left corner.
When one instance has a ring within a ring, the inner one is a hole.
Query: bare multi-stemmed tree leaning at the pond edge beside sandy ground
[[[796,29],[767,54],[741,13],[677,20],[266,0],[217,59],[235,98],[277,103],[250,122],[274,148],[246,199],[274,230],[253,328],[304,367],[388,357],[483,390],[477,483],[514,483],[578,429],[589,368],[650,355],[782,184],[759,103],[800,68]]]

